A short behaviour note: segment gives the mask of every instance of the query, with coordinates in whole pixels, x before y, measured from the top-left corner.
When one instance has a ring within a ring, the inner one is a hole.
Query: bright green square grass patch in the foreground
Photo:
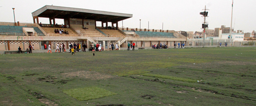
[[[116,95],[116,93],[114,92],[110,92],[106,89],[102,89],[99,87],[68,89],[68,90],[63,90],[63,92],[80,101]]]

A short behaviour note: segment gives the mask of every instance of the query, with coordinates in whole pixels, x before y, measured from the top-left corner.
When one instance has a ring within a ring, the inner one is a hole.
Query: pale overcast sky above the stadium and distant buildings
[[[204,6],[209,9],[206,21],[209,29],[230,27],[232,0],[0,0],[0,22],[33,22],[32,12],[45,5],[84,8],[132,14],[123,21],[125,28],[163,29],[175,31],[202,31]],[[234,0],[232,28],[252,32],[256,30],[256,0]],[[40,19],[49,23],[48,19]],[[58,24],[64,23],[61,20]],[[98,25],[99,23],[97,23]],[[118,22],[122,27],[122,22]]]

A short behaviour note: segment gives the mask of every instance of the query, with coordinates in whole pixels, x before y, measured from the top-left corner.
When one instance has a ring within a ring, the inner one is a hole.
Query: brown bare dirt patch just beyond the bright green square
[[[62,73],[65,77],[79,77],[79,78],[88,78],[91,80],[99,80],[99,79],[108,79],[112,78],[112,75],[101,74],[94,71],[77,71],[71,73]]]

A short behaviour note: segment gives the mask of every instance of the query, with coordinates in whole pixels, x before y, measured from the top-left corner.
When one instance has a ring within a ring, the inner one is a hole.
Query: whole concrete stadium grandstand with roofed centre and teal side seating
[[[39,17],[49,18],[48,24],[41,24]],[[96,11],[62,6],[44,6],[32,12],[33,23],[0,22],[0,53],[26,50],[34,45],[35,51],[45,52],[44,44],[56,48],[57,43],[89,45],[101,42],[108,50],[108,45],[117,43],[127,47],[128,42],[135,42],[136,49],[151,48],[151,45],[165,43],[169,47],[174,42],[186,42],[186,37],[176,31],[154,29],[119,28],[118,22],[132,18],[132,14]],[[58,25],[55,20],[62,19]],[[101,26],[96,26],[101,22]],[[108,23],[111,22],[111,25]],[[104,26],[105,25],[105,26]],[[48,47],[48,46],[47,46]]]

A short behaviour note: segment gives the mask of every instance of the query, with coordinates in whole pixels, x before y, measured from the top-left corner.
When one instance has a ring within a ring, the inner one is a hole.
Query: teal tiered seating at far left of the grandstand
[[[39,28],[26,26],[0,25],[0,33],[23,33],[22,28],[34,28],[36,33],[38,33],[40,36],[44,36],[44,33]]]

